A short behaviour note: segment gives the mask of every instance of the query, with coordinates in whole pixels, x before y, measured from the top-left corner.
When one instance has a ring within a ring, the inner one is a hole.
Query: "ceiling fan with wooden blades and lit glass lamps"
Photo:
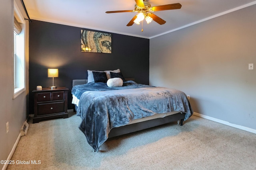
[[[163,11],[163,10],[175,10],[180,9],[181,4],[167,4],[167,5],[160,5],[160,6],[153,6],[151,7],[151,4],[149,2],[146,2],[146,0],[135,0],[135,8],[134,10],[120,10],[120,11],[107,11],[106,13],[118,13],[118,12],[138,12],[136,16],[130,20],[130,22],[126,26],[132,26],[133,23],[140,24],[140,21],[146,20],[147,23],[150,23],[152,20],[156,21],[160,25],[166,23],[162,18],[156,16],[152,12],[154,11]],[[143,31],[143,29],[142,29]]]

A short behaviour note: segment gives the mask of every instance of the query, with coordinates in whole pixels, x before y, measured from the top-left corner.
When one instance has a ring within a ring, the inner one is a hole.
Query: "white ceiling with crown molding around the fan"
[[[154,12],[166,21],[142,25],[127,23],[134,12],[106,14],[106,11],[134,10],[134,0],[24,0],[32,20],[152,38],[256,4],[255,0],[147,0],[151,6],[180,3],[179,10]]]

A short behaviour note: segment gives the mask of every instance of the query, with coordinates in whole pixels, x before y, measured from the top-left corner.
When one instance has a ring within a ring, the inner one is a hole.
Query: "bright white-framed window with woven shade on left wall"
[[[25,21],[14,3],[13,98],[25,91]]]

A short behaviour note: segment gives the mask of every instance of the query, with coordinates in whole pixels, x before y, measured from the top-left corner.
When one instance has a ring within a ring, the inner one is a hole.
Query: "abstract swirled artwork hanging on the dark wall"
[[[111,34],[81,29],[81,52],[111,53]]]

